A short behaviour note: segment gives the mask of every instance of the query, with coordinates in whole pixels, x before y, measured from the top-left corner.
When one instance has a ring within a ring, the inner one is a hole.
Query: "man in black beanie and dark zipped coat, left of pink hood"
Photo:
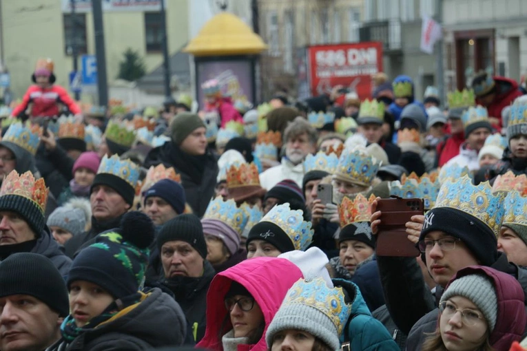
[[[205,259],[207,243],[196,215],[178,215],[169,220],[157,237],[163,284],[174,293],[192,328],[196,343],[205,335],[207,290],[216,274]]]

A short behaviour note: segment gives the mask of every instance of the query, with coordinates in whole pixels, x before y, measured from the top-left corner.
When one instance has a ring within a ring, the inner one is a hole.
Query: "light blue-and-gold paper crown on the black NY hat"
[[[473,215],[497,235],[502,226],[504,198],[503,193],[493,194],[488,182],[474,185],[472,179],[464,175],[460,179],[448,179],[442,184],[434,208],[449,207]]]

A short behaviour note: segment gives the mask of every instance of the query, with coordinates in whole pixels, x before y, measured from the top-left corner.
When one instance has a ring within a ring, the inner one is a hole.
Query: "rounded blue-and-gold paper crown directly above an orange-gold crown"
[[[379,162],[364,147],[344,149],[338,159],[335,175],[363,187],[369,187],[379,169]]]

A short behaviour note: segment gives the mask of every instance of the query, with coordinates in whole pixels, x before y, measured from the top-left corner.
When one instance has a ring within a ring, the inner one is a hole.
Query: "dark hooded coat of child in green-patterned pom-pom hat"
[[[158,288],[134,308],[126,308],[70,343],[63,339],[46,351],[129,351],[183,345],[187,322],[180,306]]]

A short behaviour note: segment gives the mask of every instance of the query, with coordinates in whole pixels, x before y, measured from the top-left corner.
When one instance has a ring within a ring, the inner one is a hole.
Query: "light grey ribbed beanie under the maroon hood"
[[[497,296],[492,282],[487,277],[473,274],[451,281],[441,297],[441,302],[454,296],[471,300],[485,316],[490,332],[494,330],[497,319]]]

